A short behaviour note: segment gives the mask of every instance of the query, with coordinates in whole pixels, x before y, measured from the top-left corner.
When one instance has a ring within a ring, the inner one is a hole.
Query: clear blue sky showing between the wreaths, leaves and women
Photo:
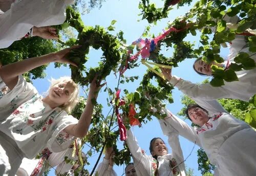
[[[162,1],[152,1],[156,2],[157,6],[160,7],[163,5]],[[157,22],[157,26],[152,27],[151,34],[155,34],[157,36],[159,33],[162,32],[162,29],[167,27],[167,22],[174,20],[177,16],[184,15],[186,11],[188,11],[189,8],[193,7],[196,1],[191,3],[190,7],[181,7],[180,9],[176,9],[175,6],[172,11],[169,12],[169,16],[166,19],[161,20],[161,22]],[[137,40],[141,34],[144,31],[145,26],[148,25],[146,20],[140,20],[141,16],[138,16],[140,13],[140,10],[138,9],[139,1],[126,1],[126,0],[106,0],[105,3],[102,4],[101,9],[93,9],[89,14],[83,15],[82,19],[85,25],[87,26],[95,26],[100,25],[103,27],[110,26],[110,23],[113,19],[117,20],[116,24],[114,25],[116,27],[115,32],[112,34],[118,33],[120,30],[124,32],[124,38],[127,40],[127,44],[131,44],[133,41]],[[188,36],[185,38],[186,41],[193,41],[195,42],[195,47],[198,47],[199,42],[199,35],[197,36]],[[96,51],[95,49],[91,49],[89,54],[89,62],[86,63],[86,66],[88,68],[97,66],[97,62],[99,61],[99,58],[101,56],[102,52]],[[168,57],[173,55],[173,50],[169,49],[168,51],[163,52],[163,54]],[[221,53],[222,56],[227,56],[227,49]],[[185,80],[189,80],[191,82],[201,82],[206,77],[201,77],[198,74],[194,72],[192,69],[194,59],[186,59],[182,63],[179,64],[179,67],[176,67],[173,69],[173,74],[177,75],[178,77],[181,77]],[[146,67],[144,65],[140,65],[138,68],[127,70],[125,72],[125,76],[131,77],[131,76],[139,76],[139,80],[135,81],[134,83],[128,83],[121,85],[121,89],[128,89],[130,92],[134,91],[142,77],[143,74],[146,72]],[[47,78],[46,79],[37,79],[33,81],[35,87],[38,89],[40,93],[47,91],[49,87],[48,79],[52,78],[58,78],[60,76],[70,76],[70,70],[68,67],[61,67],[61,68],[54,68],[53,64],[51,64],[47,68]],[[113,75],[113,73],[106,78],[106,82],[108,82],[108,86],[112,88],[112,90],[117,86],[117,79]],[[83,93],[81,92],[81,95]],[[120,94],[123,95],[122,93]],[[182,105],[180,103],[181,100],[181,92],[177,89],[173,90],[173,98],[174,98],[174,104],[168,104],[166,103],[167,109],[172,111],[174,114],[180,111],[182,108]],[[102,91],[99,93],[98,96],[98,103],[102,104],[104,107],[104,114],[106,115],[109,111],[109,107],[106,106],[106,97],[107,95]],[[182,117],[181,117],[182,118]],[[153,121],[150,121],[146,124],[142,125],[142,128],[133,127],[132,130],[137,137],[137,140],[139,141],[139,145],[141,148],[143,148],[147,155],[150,155],[149,152],[149,143],[150,140],[154,137],[161,137],[164,139],[164,141],[167,143],[167,138],[162,134],[162,131],[160,129],[160,125],[155,117],[153,117]],[[187,123],[190,124],[189,120],[185,120]],[[183,150],[184,158],[186,158],[189,153],[191,152],[191,149],[193,148],[194,144],[189,142],[188,140],[180,137],[181,147]],[[121,141],[118,141],[119,148],[122,147]],[[168,146],[168,144],[167,144]],[[170,147],[168,146],[169,153],[172,152]],[[188,157],[185,164],[187,167],[194,169],[195,175],[201,175],[200,171],[198,171],[198,164],[197,164],[197,149],[198,147],[195,147],[195,149],[192,151],[191,156]],[[87,152],[88,148],[84,147],[84,152]],[[94,154],[90,159],[89,162],[91,165],[86,166],[86,168],[91,171],[96,160],[98,158],[98,154]],[[100,160],[102,161],[102,159]],[[124,166],[114,166],[114,170],[117,172],[117,175],[122,175]],[[54,172],[51,171],[50,175],[54,175]]]

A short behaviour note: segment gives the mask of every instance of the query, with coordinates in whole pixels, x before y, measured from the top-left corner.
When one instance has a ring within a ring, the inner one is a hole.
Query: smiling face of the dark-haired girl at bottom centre
[[[151,152],[152,156],[164,156],[168,154],[168,149],[164,143],[164,141],[162,141],[162,139],[157,138],[154,142],[153,142],[153,150]]]

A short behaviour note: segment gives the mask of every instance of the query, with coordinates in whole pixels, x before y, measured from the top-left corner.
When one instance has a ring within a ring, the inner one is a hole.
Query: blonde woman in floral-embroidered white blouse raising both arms
[[[0,97],[0,175],[15,175],[23,158],[33,159],[44,148],[50,152],[67,149],[75,138],[89,129],[99,89],[97,76],[90,85],[88,103],[79,120],[69,115],[78,102],[78,85],[71,78],[59,79],[42,97],[22,74],[50,63],[72,63],[66,57],[73,48],[30,58],[0,68],[0,77],[9,92]]]

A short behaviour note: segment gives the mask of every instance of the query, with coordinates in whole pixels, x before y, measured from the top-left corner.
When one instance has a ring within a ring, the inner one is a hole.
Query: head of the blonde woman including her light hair
[[[78,85],[70,77],[51,79],[50,82],[51,86],[48,90],[50,100],[67,113],[71,113],[78,103]]]

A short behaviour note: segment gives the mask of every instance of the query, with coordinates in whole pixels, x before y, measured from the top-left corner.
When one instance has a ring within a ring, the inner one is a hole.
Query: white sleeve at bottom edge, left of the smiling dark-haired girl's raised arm
[[[109,160],[103,158],[103,161],[99,164],[94,175],[98,172],[99,176],[117,176],[113,166],[109,165]]]

